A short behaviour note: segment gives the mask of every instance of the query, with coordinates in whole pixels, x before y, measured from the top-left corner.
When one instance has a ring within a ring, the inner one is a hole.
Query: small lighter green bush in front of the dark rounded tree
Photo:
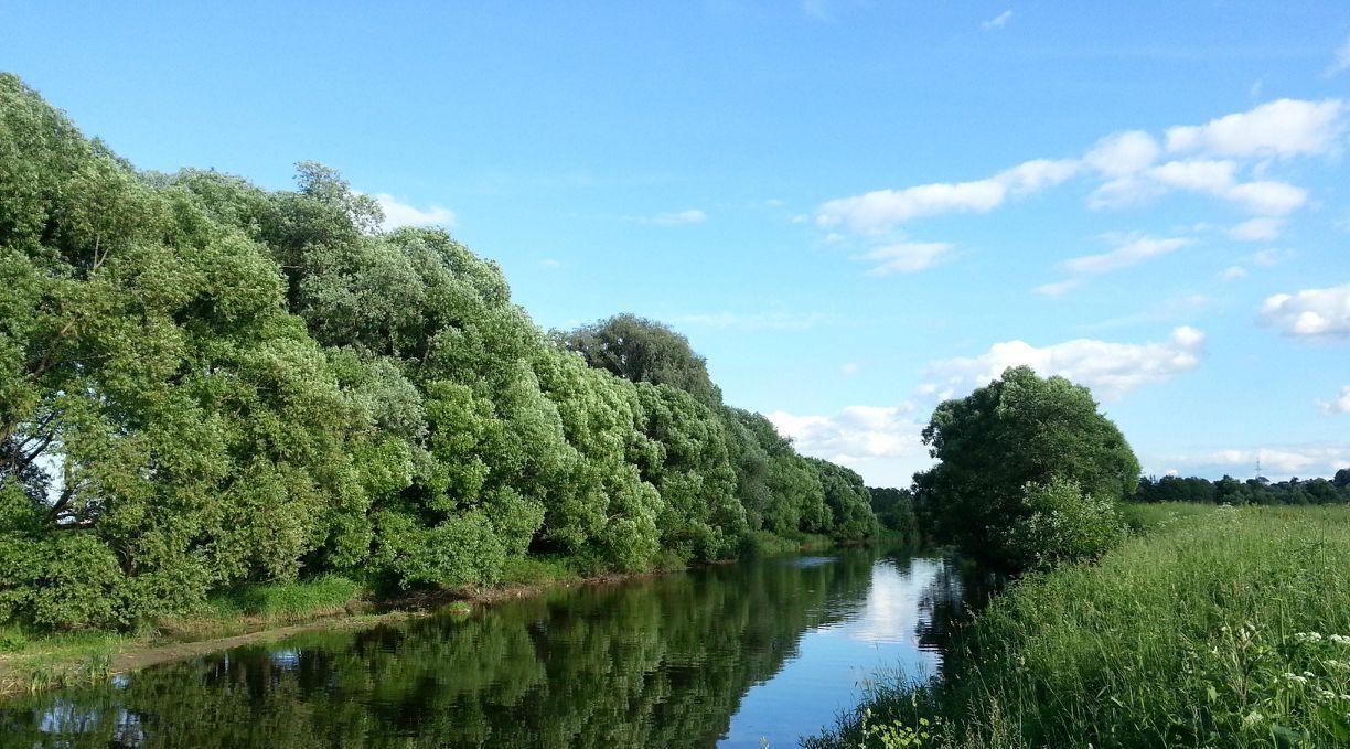
[[[1123,537],[1115,503],[1087,494],[1072,479],[1022,487],[1026,516],[1008,529],[1007,548],[1023,570],[1098,559]]]

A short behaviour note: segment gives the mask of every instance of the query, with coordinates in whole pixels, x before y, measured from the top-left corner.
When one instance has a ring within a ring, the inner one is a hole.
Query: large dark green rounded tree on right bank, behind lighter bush
[[[1008,368],[971,395],[938,405],[923,441],[940,460],[915,475],[934,534],[1004,564],[1037,556],[1010,549],[1004,530],[1034,511],[1026,484],[1072,482],[1110,506],[1134,491],[1139,475],[1134,452],[1098,413],[1087,387],[1042,379],[1029,367]]]

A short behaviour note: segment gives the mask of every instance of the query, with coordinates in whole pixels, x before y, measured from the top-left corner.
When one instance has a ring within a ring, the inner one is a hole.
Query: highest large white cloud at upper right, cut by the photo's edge
[[[1345,131],[1343,113],[1339,99],[1280,99],[1203,126],[1168,128],[1168,151],[1231,157],[1326,154],[1335,150]]]

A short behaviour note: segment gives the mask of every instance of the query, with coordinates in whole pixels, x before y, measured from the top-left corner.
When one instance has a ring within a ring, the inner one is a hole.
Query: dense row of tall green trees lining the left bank
[[[333,171],[144,174],[0,77],[0,622],[132,626],[324,571],[483,584],[857,538],[857,474],[672,331],[540,331]]]

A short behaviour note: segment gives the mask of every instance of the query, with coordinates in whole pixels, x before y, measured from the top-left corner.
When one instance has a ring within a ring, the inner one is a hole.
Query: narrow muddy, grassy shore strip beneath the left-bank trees
[[[805,553],[836,545],[818,536],[795,541],[771,537],[768,541],[759,544],[755,553]],[[93,683],[159,663],[305,632],[373,628],[424,617],[447,606],[467,613],[475,606],[556,588],[624,583],[687,570],[688,565],[670,561],[643,572],[583,574],[566,560],[525,557],[514,560],[502,582],[491,587],[437,588],[381,598],[352,580],[324,576],[304,583],[251,584],[223,591],[198,614],[161,619],[139,633],[31,634],[0,628],[0,696]]]

